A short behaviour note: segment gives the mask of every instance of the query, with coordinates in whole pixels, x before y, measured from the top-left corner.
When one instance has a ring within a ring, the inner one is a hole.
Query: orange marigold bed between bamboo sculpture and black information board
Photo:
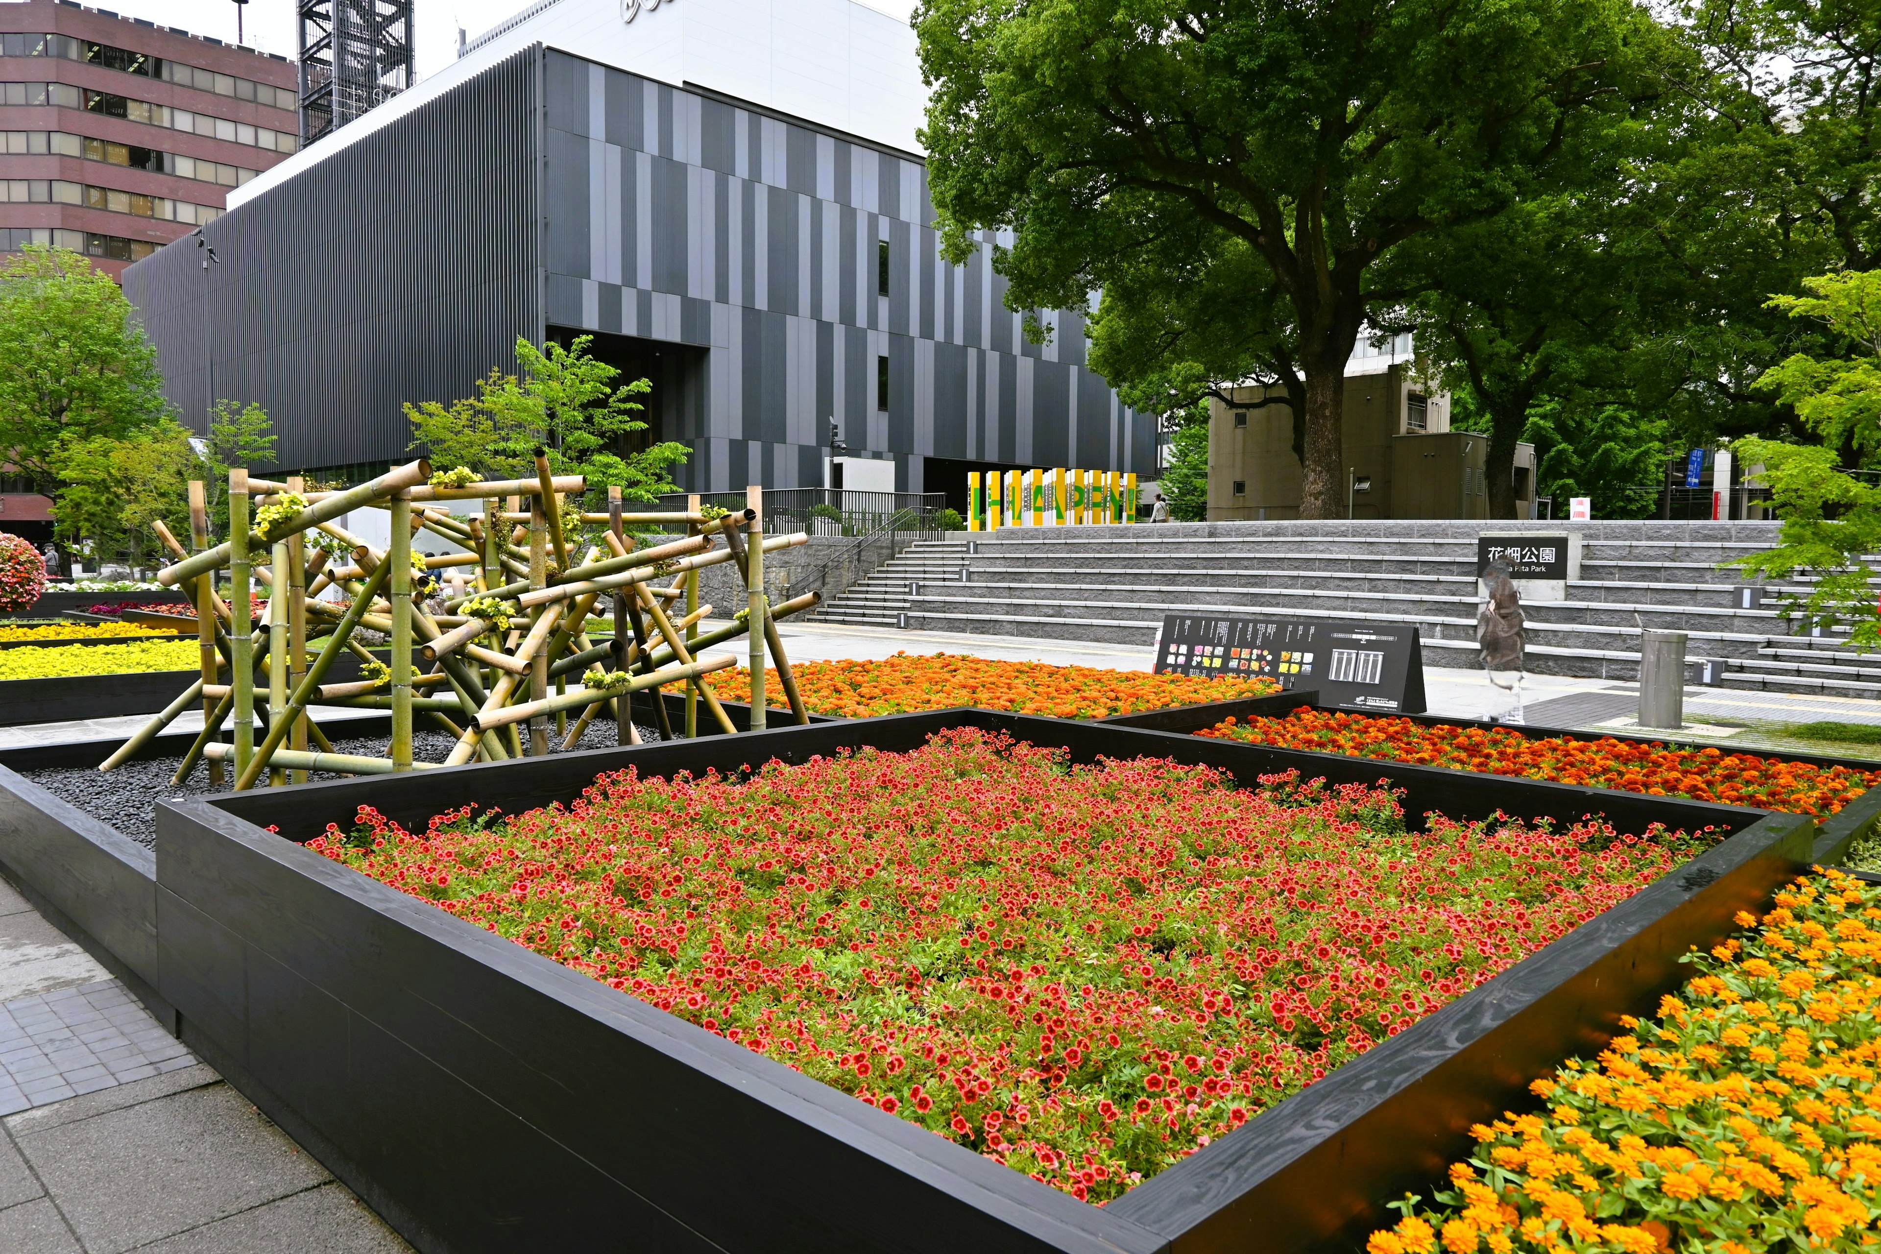
[[[790,667],[805,709],[839,718],[909,714],[912,711],[978,705],[1014,714],[1051,718],[1108,718],[1196,701],[1234,701],[1279,692],[1272,679],[1204,679],[1108,671],[1099,666],[997,662],[937,652],[897,652],[878,662],[801,662]],[[782,707],[777,671],[764,671],[767,705]],[[751,699],[751,671],[719,671],[713,692],[726,701]]]

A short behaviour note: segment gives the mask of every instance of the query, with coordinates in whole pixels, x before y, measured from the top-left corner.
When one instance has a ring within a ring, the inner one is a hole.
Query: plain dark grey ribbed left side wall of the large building
[[[517,53],[124,273],[179,417],[275,417],[280,464],[404,453],[406,400],[450,400],[542,337],[542,53]],[[211,376],[213,387],[211,393]]]

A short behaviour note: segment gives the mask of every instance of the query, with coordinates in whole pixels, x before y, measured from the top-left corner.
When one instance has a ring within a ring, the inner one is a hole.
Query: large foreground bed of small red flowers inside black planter
[[[1104,1201],[1704,844],[957,729],[308,848]]]

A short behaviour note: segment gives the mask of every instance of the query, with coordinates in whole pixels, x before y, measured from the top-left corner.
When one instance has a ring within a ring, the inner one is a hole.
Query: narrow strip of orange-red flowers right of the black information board
[[[1614,737],[1537,741],[1507,728],[1426,728],[1409,718],[1311,707],[1283,718],[1228,718],[1196,735],[1817,816],[1834,814],[1881,782],[1881,771],[1811,767],[1710,746]]]

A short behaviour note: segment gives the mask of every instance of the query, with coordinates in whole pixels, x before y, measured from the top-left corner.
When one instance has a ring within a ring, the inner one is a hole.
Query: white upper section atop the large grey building
[[[530,11],[536,9],[536,11]],[[920,154],[927,109],[914,30],[856,0],[555,0],[363,118],[229,192],[229,209],[292,179],[512,53],[544,43],[668,83]]]

